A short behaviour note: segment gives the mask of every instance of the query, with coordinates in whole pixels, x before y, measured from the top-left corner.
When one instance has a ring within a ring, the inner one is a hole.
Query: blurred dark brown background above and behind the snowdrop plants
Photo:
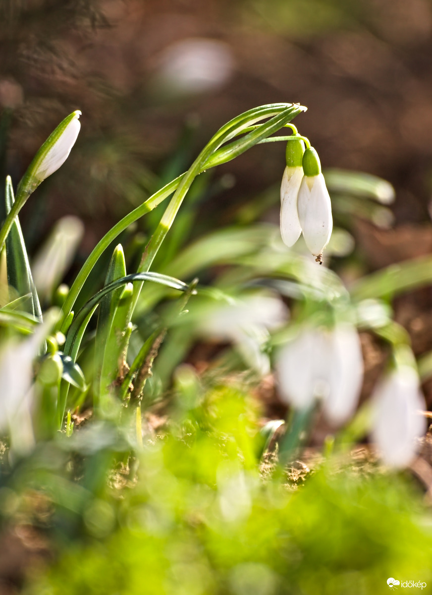
[[[308,107],[296,124],[324,167],[396,188],[397,237],[358,222],[368,267],[431,252],[430,0],[1,0],[0,10],[3,173],[16,183],[56,124],[83,111],[70,159],[24,209],[30,249],[72,213],[88,252],[225,121],[293,101]],[[202,43],[216,48],[198,68],[207,89],[173,83],[190,40],[198,62]],[[254,148],[217,170],[226,190],[201,209],[226,223],[283,165],[279,143]]]

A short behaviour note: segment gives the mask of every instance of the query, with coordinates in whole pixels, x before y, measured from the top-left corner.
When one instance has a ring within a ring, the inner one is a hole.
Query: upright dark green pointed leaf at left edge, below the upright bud
[[[14,205],[14,190],[10,176],[6,178],[5,206],[7,214]],[[18,217],[12,223],[10,233],[6,240],[6,265],[8,273],[8,284],[17,292],[18,297],[31,294],[30,307],[27,309],[29,314],[33,314],[37,320],[42,321],[42,311],[40,309],[39,298],[34,287],[33,278],[27,256],[26,245],[24,243],[23,233],[21,231]],[[11,296],[15,297],[15,296]],[[25,305],[25,304],[23,304]]]

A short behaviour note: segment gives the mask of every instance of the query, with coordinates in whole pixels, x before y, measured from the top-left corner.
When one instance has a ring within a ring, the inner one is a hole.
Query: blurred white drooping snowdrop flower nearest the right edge
[[[415,456],[416,441],[426,430],[417,372],[400,366],[381,382],[374,395],[372,439],[389,466],[402,468]]]

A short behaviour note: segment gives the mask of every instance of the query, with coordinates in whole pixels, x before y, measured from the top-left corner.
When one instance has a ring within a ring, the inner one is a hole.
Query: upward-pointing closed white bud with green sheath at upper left
[[[72,119],[66,124],[64,129],[56,129],[53,132],[51,136],[55,136],[53,137],[52,142],[49,143],[49,140],[51,140],[51,137],[49,137],[47,142],[42,146],[43,149],[45,148],[45,145],[47,145],[46,151],[42,152],[42,155],[40,155],[40,159],[38,159],[35,164],[36,167],[32,172],[33,176],[39,182],[45,180],[48,176],[51,176],[51,174],[58,170],[68,158],[81,128],[80,121],[78,120],[80,115],[81,112],[79,110],[75,111]]]

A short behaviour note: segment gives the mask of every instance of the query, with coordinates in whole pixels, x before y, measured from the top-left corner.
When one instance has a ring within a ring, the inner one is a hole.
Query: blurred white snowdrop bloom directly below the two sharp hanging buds
[[[286,403],[307,409],[321,398],[327,419],[342,424],[355,411],[363,380],[357,331],[349,324],[302,330],[280,349],[276,375]]]

